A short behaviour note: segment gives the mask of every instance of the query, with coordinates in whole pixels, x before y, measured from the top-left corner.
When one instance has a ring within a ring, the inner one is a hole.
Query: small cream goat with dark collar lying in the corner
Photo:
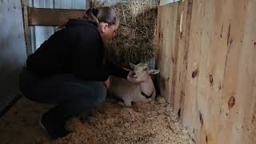
[[[150,74],[158,74],[159,70],[150,70],[145,63],[134,65],[129,62],[129,64],[132,68],[132,77],[139,83],[110,77],[109,93],[115,98],[121,98],[125,106],[131,106],[132,102],[150,102],[156,95]]]

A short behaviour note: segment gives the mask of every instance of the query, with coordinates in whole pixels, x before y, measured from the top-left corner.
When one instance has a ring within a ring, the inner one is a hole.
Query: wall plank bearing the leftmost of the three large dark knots
[[[193,10],[190,26],[190,44],[188,52],[188,66],[186,74],[186,98],[184,99],[184,112],[182,123],[190,133],[195,142],[200,141],[198,135],[201,134],[202,112],[198,110],[198,79],[200,70],[200,59],[202,57],[202,31],[205,28],[203,19],[203,0],[193,1]],[[200,7],[198,7],[200,6]],[[194,25],[197,23],[198,25]],[[200,24],[199,24],[200,23]]]

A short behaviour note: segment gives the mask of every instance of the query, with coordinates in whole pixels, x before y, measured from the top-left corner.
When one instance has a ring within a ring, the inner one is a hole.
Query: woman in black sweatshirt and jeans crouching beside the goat
[[[70,117],[89,114],[106,98],[109,74],[136,82],[131,72],[103,62],[103,43],[114,37],[118,25],[110,7],[87,10],[84,18],[67,22],[27,59],[20,90],[32,101],[55,104],[40,120],[51,138],[69,134],[64,125]]]

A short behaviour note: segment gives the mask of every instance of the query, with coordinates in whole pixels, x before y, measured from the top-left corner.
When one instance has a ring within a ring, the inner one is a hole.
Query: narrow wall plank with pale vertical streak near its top
[[[178,117],[182,119],[184,110],[184,98],[186,97],[186,69],[187,54],[190,40],[190,21],[193,0],[182,1],[180,5],[180,22],[178,25],[178,42],[176,75],[174,76],[174,110],[177,111]]]

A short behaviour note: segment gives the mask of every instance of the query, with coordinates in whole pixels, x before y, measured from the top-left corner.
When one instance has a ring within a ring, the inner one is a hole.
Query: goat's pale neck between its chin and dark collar
[[[146,81],[140,83],[140,88],[146,95],[150,95],[154,92],[154,83],[150,76],[146,78]]]

